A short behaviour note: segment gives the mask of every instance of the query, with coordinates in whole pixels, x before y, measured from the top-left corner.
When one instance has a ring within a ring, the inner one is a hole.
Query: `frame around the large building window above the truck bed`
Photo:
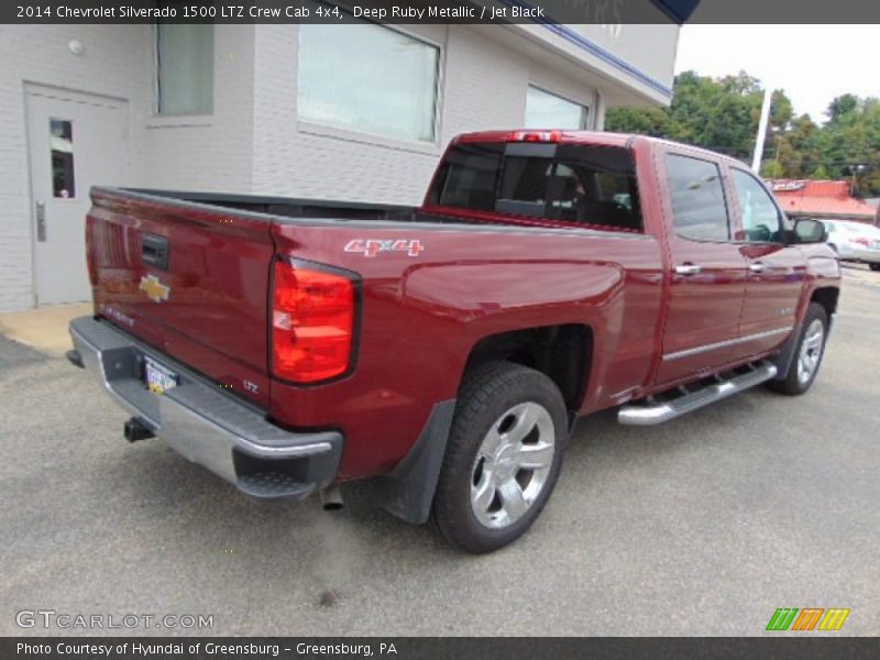
[[[317,3],[326,4],[322,0],[316,0]],[[345,11],[342,9],[342,11]],[[351,15],[351,12],[346,12]],[[398,138],[395,135],[387,135],[385,133],[377,133],[372,132],[369,130],[364,130],[361,128],[354,127],[340,127],[332,123],[326,123],[321,121],[316,121],[314,119],[302,118],[299,113],[299,76],[300,76],[300,67],[299,67],[299,58],[302,48],[302,42],[299,37],[299,33],[297,32],[296,38],[296,80],[294,82],[295,95],[296,95],[296,124],[297,130],[305,132],[305,133],[312,133],[322,136],[331,136],[331,138],[342,138],[342,139],[351,139],[355,141],[366,142],[364,138],[369,138],[370,144],[375,144],[378,146],[389,146],[396,147],[402,151],[413,151],[417,153],[430,153],[433,155],[439,154],[439,148],[442,143],[442,117],[443,117],[443,89],[446,85],[446,63],[447,63],[447,53],[446,53],[446,44],[437,38],[432,38],[430,36],[426,36],[424,34],[417,33],[413,30],[407,30],[402,25],[388,25],[385,23],[380,23],[377,21],[373,21],[370,19],[361,19],[358,21],[359,23],[374,25],[376,28],[382,28],[384,30],[389,30],[392,32],[396,32],[402,34],[413,41],[420,42],[427,46],[430,46],[437,51],[437,66],[435,70],[435,81],[433,81],[433,116],[431,118],[431,129],[433,132],[433,139],[430,141],[426,140],[406,140],[404,138]],[[301,25],[298,28],[298,30]]]

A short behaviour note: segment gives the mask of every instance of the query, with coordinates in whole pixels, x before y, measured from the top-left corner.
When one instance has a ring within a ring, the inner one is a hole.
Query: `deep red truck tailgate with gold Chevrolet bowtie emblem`
[[[99,316],[160,360],[166,353],[218,387],[268,403],[271,221],[96,188],[87,228]]]

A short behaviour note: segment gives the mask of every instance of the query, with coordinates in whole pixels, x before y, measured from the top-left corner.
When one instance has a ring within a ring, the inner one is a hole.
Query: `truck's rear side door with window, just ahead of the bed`
[[[729,200],[718,163],[660,153],[672,218],[669,308],[658,383],[678,381],[732,359],[746,290],[747,262],[733,241]]]

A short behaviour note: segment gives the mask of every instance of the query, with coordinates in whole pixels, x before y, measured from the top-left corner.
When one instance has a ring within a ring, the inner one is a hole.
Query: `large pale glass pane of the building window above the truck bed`
[[[435,141],[440,50],[370,23],[299,25],[299,119]]]

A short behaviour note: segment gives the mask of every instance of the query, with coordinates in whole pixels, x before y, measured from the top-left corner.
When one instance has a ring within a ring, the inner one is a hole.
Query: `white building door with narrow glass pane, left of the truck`
[[[127,102],[44,87],[25,91],[36,300],[88,300],[89,189],[127,183]]]

